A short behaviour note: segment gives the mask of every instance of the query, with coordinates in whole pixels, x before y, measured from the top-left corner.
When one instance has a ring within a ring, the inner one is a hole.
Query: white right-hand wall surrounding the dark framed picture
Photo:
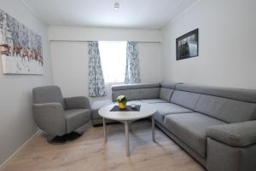
[[[256,88],[256,1],[201,0],[162,31],[166,81]],[[177,37],[199,28],[199,57],[176,60]]]

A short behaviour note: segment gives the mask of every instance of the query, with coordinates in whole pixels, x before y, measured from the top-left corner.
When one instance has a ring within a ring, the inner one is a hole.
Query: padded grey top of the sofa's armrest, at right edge
[[[256,143],[256,121],[207,128],[207,136],[224,144],[244,147]]]

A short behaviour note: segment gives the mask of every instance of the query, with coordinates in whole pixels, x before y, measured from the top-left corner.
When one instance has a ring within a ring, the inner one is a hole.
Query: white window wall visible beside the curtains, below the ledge
[[[138,49],[142,82],[160,82],[160,43],[138,43]],[[63,95],[88,96],[88,43],[51,41],[50,52],[54,82]]]

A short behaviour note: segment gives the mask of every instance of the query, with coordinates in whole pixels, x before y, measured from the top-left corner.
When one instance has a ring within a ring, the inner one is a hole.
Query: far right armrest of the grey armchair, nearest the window
[[[90,109],[90,100],[84,96],[64,98],[67,109]]]

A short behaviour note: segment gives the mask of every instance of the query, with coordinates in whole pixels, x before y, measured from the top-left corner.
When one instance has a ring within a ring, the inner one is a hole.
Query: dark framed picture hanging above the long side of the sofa
[[[198,29],[176,39],[176,60],[198,56]]]

